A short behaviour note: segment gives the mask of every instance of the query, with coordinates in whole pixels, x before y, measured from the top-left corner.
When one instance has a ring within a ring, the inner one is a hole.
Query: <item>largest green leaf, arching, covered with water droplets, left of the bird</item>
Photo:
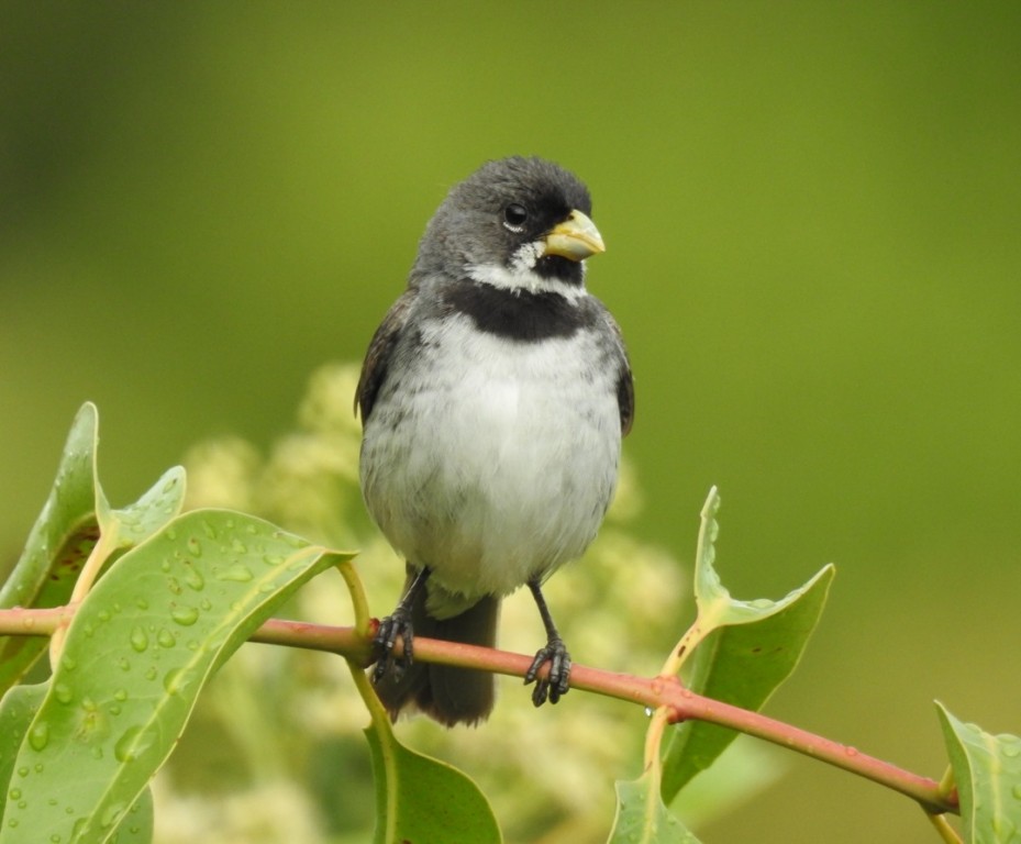
[[[120,557],[68,628],[18,751],[20,799],[8,795],[0,844],[107,841],[215,667],[302,582],[347,556],[252,517],[200,510]]]

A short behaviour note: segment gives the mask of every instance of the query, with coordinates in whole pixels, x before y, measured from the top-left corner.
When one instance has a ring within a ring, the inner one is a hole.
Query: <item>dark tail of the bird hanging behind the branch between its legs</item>
[[[426,591],[419,592],[411,608],[415,637],[482,647],[496,645],[499,598],[487,596],[459,615],[440,620],[425,610]],[[395,679],[391,669],[374,685],[390,718],[397,720],[401,711],[412,709],[446,726],[485,721],[496,696],[493,677],[486,671],[420,662],[413,662],[400,678]]]

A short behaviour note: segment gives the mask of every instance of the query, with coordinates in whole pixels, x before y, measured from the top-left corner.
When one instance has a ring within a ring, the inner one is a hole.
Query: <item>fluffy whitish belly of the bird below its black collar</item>
[[[468,325],[426,330],[400,408],[380,393],[362,485],[395,548],[470,602],[581,555],[617,482],[620,411],[590,335],[514,343]]]

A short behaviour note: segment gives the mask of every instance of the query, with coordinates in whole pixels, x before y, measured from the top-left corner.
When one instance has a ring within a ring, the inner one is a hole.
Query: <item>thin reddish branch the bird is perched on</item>
[[[0,610],[0,635],[51,635],[62,622],[67,622],[73,611],[70,607]],[[375,623],[371,626],[375,628]],[[328,651],[362,666],[368,666],[371,660],[371,640],[357,633],[354,628],[271,619],[256,631],[252,641]],[[395,647],[399,651],[403,643],[398,640]],[[477,668],[514,677],[524,677],[532,663],[532,657],[524,654],[418,636],[414,640],[414,654],[417,659],[424,663]],[[547,670],[547,667],[542,670]],[[576,664],[571,667],[570,686],[573,689],[593,691],[652,710],[666,707],[672,723],[707,721],[797,751],[910,797],[931,815],[959,811],[956,793],[945,793],[933,779],[758,712],[696,695],[676,677],[635,677]]]

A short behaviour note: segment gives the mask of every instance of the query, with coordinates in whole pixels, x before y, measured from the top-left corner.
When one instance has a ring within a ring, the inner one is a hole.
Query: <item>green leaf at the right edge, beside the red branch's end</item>
[[[1021,738],[990,735],[936,703],[969,844],[1021,842]]]

